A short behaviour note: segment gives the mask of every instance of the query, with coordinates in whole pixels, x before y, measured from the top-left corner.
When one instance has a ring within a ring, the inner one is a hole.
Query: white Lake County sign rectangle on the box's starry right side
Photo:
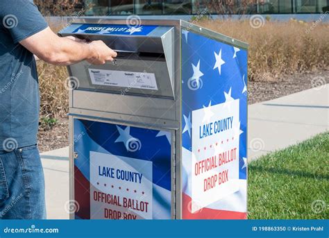
[[[239,191],[239,105],[192,111],[192,213]]]

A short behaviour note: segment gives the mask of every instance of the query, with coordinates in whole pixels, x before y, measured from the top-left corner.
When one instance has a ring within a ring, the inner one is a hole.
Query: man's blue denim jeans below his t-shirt
[[[0,219],[46,219],[37,146],[0,151]]]

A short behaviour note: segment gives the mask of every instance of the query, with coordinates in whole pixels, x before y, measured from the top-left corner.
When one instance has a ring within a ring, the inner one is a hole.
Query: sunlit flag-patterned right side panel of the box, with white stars
[[[183,219],[246,218],[247,51],[182,30]]]

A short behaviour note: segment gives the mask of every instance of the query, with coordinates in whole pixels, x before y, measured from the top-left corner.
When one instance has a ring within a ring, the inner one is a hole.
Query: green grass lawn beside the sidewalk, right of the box
[[[329,219],[329,133],[248,164],[248,219]]]

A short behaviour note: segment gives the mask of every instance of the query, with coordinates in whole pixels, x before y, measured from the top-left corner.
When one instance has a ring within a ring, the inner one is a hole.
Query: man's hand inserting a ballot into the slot
[[[108,48],[108,46],[101,40],[96,40],[89,43],[91,54],[90,58],[87,59],[90,64],[103,65],[106,61],[112,61],[113,58],[117,57],[117,52]]]

